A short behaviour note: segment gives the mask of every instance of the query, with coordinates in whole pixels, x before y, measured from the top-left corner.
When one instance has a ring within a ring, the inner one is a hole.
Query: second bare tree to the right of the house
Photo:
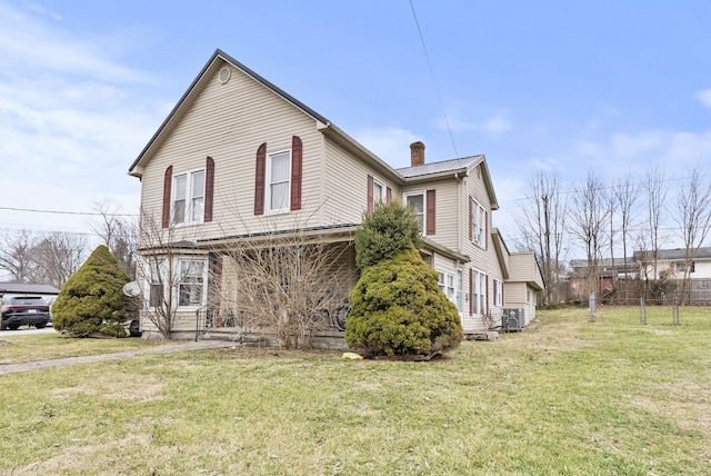
[[[575,189],[569,210],[570,231],[585,249],[590,292],[599,287],[602,237],[608,212],[602,182],[591,170],[584,186]]]

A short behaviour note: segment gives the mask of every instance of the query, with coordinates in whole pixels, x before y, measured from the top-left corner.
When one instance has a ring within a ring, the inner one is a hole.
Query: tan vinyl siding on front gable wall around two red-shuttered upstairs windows
[[[316,226],[321,196],[321,151],[323,136],[314,119],[261,83],[231,68],[226,83],[219,69],[196,97],[189,110],[147,162],[143,171],[142,204],[160,217],[163,175],[173,166],[173,175],[204,167],[206,157],[214,160],[213,221],[186,226],[186,238],[199,235],[259,232],[267,228],[291,228],[294,222]],[[262,142],[267,153],[291,148],[292,136],[303,142],[302,210],[284,216],[254,216],[254,160]]]

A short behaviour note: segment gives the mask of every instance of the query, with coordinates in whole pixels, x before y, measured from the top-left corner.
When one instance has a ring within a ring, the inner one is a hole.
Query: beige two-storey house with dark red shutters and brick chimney
[[[465,333],[500,326],[508,307],[523,309],[522,324],[530,321],[542,278],[533,254],[509,252],[491,225],[499,205],[485,158],[425,162],[421,142],[410,151],[403,145],[408,152],[411,167],[393,169],[217,50],[129,169],[141,180],[143,215],[154,217],[174,266],[186,270],[172,289],[151,286],[151,276],[143,276],[144,295],[178,295],[172,329],[188,337],[209,307],[211,289],[229,292],[220,247],[298,228],[352,248],[362,214],[399,199],[418,212],[421,254],[457,305]],[[141,245],[144,257],[159,252]],[[358,275],[354,252],[343,257],[353,269],[339,281],[338,291],[347,296]],[[219,272],[210,274],[216,267]],[[208,336],[226,324],[211,325]],[[148,335],[154,330],[147,319],[142,327]],[[338,335],[342,326],[336,327]]]

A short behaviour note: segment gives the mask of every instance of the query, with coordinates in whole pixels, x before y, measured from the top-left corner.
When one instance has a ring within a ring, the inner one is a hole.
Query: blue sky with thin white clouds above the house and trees
[[[711,165],[711,2],[412,4],[437,88],[409,0],[0,0],[0,232],[136,214],[128,167],[216,48],[393,167],[485,153],[511,240],[537,170]]]

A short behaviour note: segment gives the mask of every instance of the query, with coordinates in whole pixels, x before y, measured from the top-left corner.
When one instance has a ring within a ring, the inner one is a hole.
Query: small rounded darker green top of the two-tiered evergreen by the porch
[[[380,204],[372,214],[363,215],[356,234],[356,266],[364,269],[409,248],[422,246],[422,231],[411,207],[399,201]]]

